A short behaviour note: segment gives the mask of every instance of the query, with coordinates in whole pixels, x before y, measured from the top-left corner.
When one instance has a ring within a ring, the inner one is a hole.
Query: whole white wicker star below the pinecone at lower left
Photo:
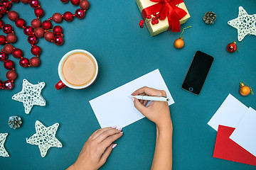
[[[31,145],[38,145],[41,156],[45,157],[50,147],[62,147],[60,141],[55,137],[58,129],[58,123],[46,128],[41,122],[36,120],[36,134],[26,139]]]

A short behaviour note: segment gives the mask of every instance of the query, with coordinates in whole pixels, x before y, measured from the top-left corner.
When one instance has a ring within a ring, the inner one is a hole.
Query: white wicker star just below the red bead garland
[[[23,79],[22,91],[18,94],[14,94],[12,99],[23,102],[25,113],[28,114],[33,105],[46,106],[46,101],[43,96],[41,96],[41,90],[45,85],[44,82],[33,85],[26,79]]]

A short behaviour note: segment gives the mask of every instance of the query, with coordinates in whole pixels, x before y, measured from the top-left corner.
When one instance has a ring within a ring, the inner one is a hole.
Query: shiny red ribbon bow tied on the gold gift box
[[[150,0],[153,2],[158,2],[152,6],[144,8],[142,10],[142,18],[145,19],[146,16],[151,15],[152,13],[159,12],[159,16],[163,18],[163,20],[167,17],[169,28],[172,32],[180,32],[181,24],[180,19],[186,16],[186,11],[182,8],[178,8],[177,4],[181,4],[183,0]]]

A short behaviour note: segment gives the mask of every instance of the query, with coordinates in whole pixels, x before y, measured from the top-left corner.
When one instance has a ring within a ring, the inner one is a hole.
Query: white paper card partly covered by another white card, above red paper
[[[228,94],[228,97],[210,119],[208,125],[216,131],[218,131],[218,125],[236,128],[247,110],[248,108],[243,103],[231,94]]]

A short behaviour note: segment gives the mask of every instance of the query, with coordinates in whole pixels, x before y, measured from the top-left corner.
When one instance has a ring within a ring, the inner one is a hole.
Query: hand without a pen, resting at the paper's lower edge
[[[112,149],[117,146],[113,144],[115,140],[122,137],[122,128],[116,127],[102,128],[89,137],[82,147],[78,159],[67,170],[95,170],[105,164]]]

